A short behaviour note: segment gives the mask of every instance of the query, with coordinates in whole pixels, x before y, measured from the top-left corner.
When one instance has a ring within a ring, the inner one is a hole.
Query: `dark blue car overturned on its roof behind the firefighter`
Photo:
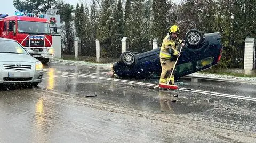
[[[219,63],[222,53],[220,33],[205,33],[192,29],[186,33],[185,47],[175,68],[175,78],[202,71]],[[111,70],[115,77],[152,78],[161,74],[160,48],[144,53],[123,52]]]

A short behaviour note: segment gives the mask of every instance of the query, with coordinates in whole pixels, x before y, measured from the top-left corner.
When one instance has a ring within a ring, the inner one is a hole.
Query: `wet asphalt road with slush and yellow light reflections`
[[[256,140],[256,102],[218,94],[159,91],[142,83],[111,79],[109,69],[110,65],[51,63],[39,87],[2,89],[0,142]],[[158,83],[157,79],[130,81]],[[256,99],[255,83],[190,78],[177,83],[181,88]]]

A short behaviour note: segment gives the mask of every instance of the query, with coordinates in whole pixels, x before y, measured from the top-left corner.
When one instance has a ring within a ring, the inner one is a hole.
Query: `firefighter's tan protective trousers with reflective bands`
[[[162,73],[161,73],[161,76],[160,76],[159,83],[167,84],[167,82],[170,78],[170,75],[172,73],[172,69],[173,69],[175,61],[160,58],[160,63],[161,63],[161,67],[162,67]],[[174,75],[174,72],[173,72],[173,75]],[[170,83],[172,83],[172,85],[174,85],[174,76],[173,75],[172,75],[171,80],[170,80],[171,81]]]

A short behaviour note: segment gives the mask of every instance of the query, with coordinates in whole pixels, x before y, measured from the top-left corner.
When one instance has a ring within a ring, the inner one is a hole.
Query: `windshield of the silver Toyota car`
[[[0,40],[0,53],[28,54],[16,41]]]

